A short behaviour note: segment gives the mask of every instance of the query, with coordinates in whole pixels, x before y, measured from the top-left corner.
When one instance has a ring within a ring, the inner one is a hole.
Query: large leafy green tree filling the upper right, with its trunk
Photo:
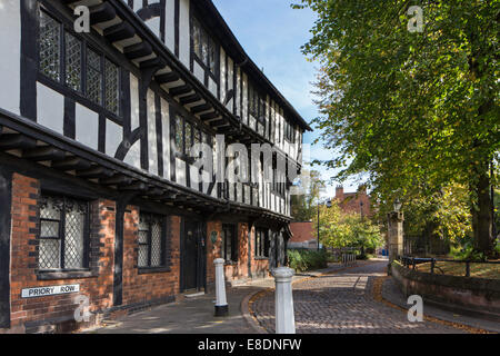
[[[410,32],[410,6],[423,10]],[[303,52],[337,179],[369,175],[382,204],[468,188],[478,251],[492,250],[489,167],[500,148],[498,0],[301,0],[318,20]],[[348,164],[349,162],[349,164]]]

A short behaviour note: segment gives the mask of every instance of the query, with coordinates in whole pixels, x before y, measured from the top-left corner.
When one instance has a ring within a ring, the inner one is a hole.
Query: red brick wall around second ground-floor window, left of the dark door
[[[138,264],[139,209],[128,207],[123,226],[123,304],[147,303],[164,299],[179,294],[180,268],[180,224],[181,218],[173,216],[168,222],[168,238],[171,239],[170,271],[140,274]]]

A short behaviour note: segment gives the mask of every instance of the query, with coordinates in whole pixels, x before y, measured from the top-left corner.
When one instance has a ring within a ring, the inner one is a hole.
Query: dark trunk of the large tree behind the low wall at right
[[[490,178],[488,176],[488,164],[480,167],[478,177],[479,179],[473,187],[478,198],[476,207],[472,207],[472,229],[476,249],[479,253],[483,253],[486,256],[490,256],[492,253],[493,241],[493,217],[491,214]]]

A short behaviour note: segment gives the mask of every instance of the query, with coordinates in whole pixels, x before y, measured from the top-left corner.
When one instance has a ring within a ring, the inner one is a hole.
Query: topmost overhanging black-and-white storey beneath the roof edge
[[[89,6],[93,28],[217,134],[271,144],[300,164],[310,127],[248,58],[211,1],[63,2]]]

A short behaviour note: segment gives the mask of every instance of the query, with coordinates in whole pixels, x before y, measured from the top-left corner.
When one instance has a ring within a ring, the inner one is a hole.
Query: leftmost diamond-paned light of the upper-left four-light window
[[[59,81],[61,78],[61,24],[40,12],[40,71]]]

